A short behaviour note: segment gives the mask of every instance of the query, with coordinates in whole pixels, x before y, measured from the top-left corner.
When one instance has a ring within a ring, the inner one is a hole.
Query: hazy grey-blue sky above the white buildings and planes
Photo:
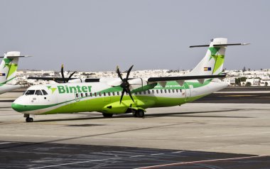
[[[270,1],[0,1],[0,53],[21,51],[19,69],[191,69],[212,38],[225,67],[270,68]]]

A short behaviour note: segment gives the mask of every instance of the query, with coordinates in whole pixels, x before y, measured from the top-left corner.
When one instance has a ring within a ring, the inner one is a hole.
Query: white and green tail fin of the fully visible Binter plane
[[[220,75],[223,69],[227,45],[229,45],[227,44],[227,38],[212,39],[205,58],[199,62],[189,75]],[[190,46],[190,48],[206,46],[208,45]]]

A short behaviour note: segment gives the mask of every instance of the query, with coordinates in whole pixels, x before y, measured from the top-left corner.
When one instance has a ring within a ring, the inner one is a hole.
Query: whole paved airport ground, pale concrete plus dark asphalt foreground
[[[0,168],[270,168],[267,103],[190,103],[147,109],[144,119],[53,114],[33,123],[10,105],[0,102]]]

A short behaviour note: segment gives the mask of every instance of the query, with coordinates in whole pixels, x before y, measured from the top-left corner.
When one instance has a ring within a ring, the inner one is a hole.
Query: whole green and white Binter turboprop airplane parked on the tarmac
[[[227,87],[227,83],[220,79],[225,77],[222,67],[229,45],[246,43],[227,44],[227,38],[215,38],[210,45],[190,46],[207,46],[207,53],[188,75],[178,77],[130,78],[131,66],[126,78],[117,67],[118,78],[72,79],[72,75],[64,77],[62,67],[62,80],[61,77],[57,80],[63,83],[29,87],[11,107],[24,114],[27,122],[33,121],[31,114],[84,111],[98,111],[104,117],[125,113],[143,117],[148,108],[185,104]],[[55,80],[53,77],[45,78]]]

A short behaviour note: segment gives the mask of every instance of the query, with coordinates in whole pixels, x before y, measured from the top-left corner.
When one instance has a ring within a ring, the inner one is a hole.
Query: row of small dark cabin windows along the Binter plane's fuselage
[[[156,94],[158,94],[158,93],[178,93],[178,92],[182,92],[182,89],[152,89],[152,90],[147,90],[147,91],[144,91],[144,92],[135,92],[134,94],[146,94],[146,93],[148,93],[148,94],[155,94],[155,92],[156,92]],[[99,97],[101,97],[102,96],[102,94],[103,94],[103,96],[119,96],[119,95],[121,95],[121,92],[103,92],[103,93],[101,93],[101,92],[98,92],[98,93],[90,93],[90,94],[88,94],[88,93],[85,93],[85,97],[97,97],[97,96],[99,96]],[[126,95],[128,95],[127,93],[126,93]],[[79,97],[79,94],[78,93],[76,93],[76,97]],[[84,94],[83,93],[80,93],[80,97],[84,97]]]

